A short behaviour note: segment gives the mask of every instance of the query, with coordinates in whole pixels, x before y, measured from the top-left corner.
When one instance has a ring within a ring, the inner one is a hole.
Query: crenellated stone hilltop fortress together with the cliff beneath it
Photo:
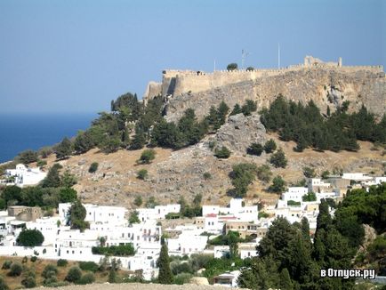
[[[225,101],[229,107],[246,99],[259,109],[269,106],[279,93],[293,101],[313,100],[319,108],[334,111],[343,101],[350,109],[365,104],[378,117],[386,111],[386,77],[382,66],[342,66],[306,56],[303,64],[278,69],[219,70],[212,73],[164,70],[162,83],[150,82],[143,100],[161,94],[166,119],[175,121],[185,109],[203,117],[209,108]]]

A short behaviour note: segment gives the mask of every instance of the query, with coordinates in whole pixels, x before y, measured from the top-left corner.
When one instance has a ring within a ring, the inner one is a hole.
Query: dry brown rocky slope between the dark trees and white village
[[[142,149],[120,149],[110,154],[92,149],[62,160],[60,164],[76,175],[78,183],[75,189],[85,202],[131,208],[134,206],[134,197],[138,195],[144,201],[153,196],[158,202],[167,203],[176,202],[180,196],[191,200],[201,193],[207,204],[226,204],[229,201],[227,190],[232,187],[229,178],[231,166],[239,162],[256,165],[267,163],[267,154],[253,157],[246,155],[245,149],[252,142],[262,143],[270,138],[285,151],[289,160],[285,169],[271,167],[273,175],[280,174],[289,183],[302,180],[304,166],[314,167],[317,173],[324,170],[332,172],[334,169],[365,173],[383,173],[385,170],[386,156],[383,150],[374,149],[369,142],[359,142],[361,149],[358,152],[305,149],[298,153],[293,150],[294,142],[279,141],[276,135],[267,134],[259,116],[245,117],[242,114],[229,117],[217,133],[206,136],[194,146],[174,151],[156,148],[156,158],[150,165],[136,165]],[[214,157],[210,144],[225,145],[232,151],[231,156],[228,159]],[[54,156],[48,157],[47,161],[48,166],[52,165]],[[92,162],[99,163],[96,173],[88,173]],[[149,178],[145,181],[137,178],[137,172],[141,169],[149,172]],[[277,196],[264,191],[267,186],[255,181],[248,191],[250,201],[262,199],[267,203],[275,202]]]

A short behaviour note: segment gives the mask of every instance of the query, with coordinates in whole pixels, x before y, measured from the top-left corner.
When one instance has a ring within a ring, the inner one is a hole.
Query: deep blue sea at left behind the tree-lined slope
[[[0,113],[0,163],[26,149],[37,150],[73,137],[96,117],[93,113]]]

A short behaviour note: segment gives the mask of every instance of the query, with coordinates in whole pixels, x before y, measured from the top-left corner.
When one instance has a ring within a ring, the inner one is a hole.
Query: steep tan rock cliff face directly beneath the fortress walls
[[[370,68],[370,67],[369,67]],[[202,85],[197,89],[197,84],[189,90],[188,77],[175,78],[173,87],[169,90],[165,112],[168,121],[178,120],[185,109],[196,110],[197,117],[204,117],[211,106],[217,106],[225,101],[229,107],[242,104],[246,99],[257,101],[258,109],[268,107],[279,93],[287,99],[302,101],[304,103],[313,100],[326,112],[327,106],[334,111],[343,101],[350,101],[350,109],[357,110],[362,104],[374,112],[378,117],[386,111],[386,78],[382,68],[301,68],[287,71],[272,71],[270,75],[249,77],[246,80],[233,77],[236,83],[228,85],[214,84]],[[236,74],[236,73],[229,73]],[[251,75],[253,76],[253,75]],[[248,77],[246,77],[248,78]],[[197,77],[193,78],[197,82]],[[181,93],[181,87],[184,92]],[[196,92],[195,92],[196,91]]]

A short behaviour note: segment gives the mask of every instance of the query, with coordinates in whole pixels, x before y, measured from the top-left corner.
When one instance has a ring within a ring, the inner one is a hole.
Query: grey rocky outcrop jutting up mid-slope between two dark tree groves
[[[225,125],[217,131],[213,140],[221,147],[225,146],[233,152],[245,154],[251,143],[265,142],[265,127],[257,114],[245,117],[243,114],[231,116]]]

